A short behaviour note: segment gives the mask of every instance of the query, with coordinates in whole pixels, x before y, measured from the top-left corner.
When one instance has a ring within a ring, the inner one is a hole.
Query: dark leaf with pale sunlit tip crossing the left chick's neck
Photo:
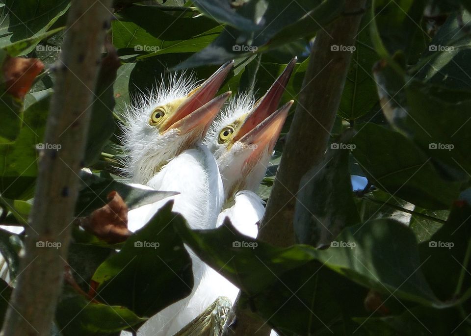
[[[164,198],[174,196],[172,191],[156,191],[133,187],[114,180],[100,178],[94,174],[80,173],[82,183],[78,192],[75,213],[78,216],[86,216],[93,210],[108,204],[108,194],[116,190],[129,210],[146,204],[154,203]]]

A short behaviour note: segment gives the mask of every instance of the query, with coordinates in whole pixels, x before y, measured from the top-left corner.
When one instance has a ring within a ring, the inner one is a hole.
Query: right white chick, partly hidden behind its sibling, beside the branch
[[[257,103],[248,95],[233,100],[221,118],[213,123],[205,138],[219,166],[226,206],[233,204],[219,214],[216,226],[222,225],[224,219],[229,217],[240,233],[253,238],[257,236],[257,224],[265,208],[254,191],[265,175],[276,140],[293,103],[290,101],[275,111],[295,64],[296,58]],[[238,292],[239,289],[217,270],[207,268],[185,310],[185,320],[190,321],[198,316],[220,296],[228,297],[234,303]],[[272,332],[272,335],[276,334]]]

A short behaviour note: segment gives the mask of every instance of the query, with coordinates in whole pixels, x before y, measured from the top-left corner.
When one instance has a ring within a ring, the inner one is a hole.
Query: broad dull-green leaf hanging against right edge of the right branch
[[[345,226],[360,222],[348,171],[347,137],[332,143],[324,160],[299,183],[293,225],[302,244],[328,245]]]

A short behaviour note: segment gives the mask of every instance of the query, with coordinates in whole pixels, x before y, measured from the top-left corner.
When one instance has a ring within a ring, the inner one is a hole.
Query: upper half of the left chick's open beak
[[[162,130],[173,129],[177,125],[181,125],[179,121],[213,99],[233,65],[234,61],[225,63],[203,84],[191,91],[172,116],[162,125]]]

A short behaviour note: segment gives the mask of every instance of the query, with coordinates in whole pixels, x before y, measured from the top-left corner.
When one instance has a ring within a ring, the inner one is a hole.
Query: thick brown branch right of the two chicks
[[[342,16],[320,29],[314,40],[299,102],[287,136],[270,198],[259,231],[259,239],[276,246],[295,243],[294,206],[301,178],[322,161],[334,125],[352,53],[334,51],[331,46],[354,46],[366,0],[347,0]],[[302,146],[301,146],[302,144]],[[302,187],[302,186],[301,186]],[[239,294],[240,295],[240,294]],[[230,312],[223,336],[267,336],[270,328],[249,308],[239,307],[238,297]],[[263,327],[262,327],[263,326]]]

